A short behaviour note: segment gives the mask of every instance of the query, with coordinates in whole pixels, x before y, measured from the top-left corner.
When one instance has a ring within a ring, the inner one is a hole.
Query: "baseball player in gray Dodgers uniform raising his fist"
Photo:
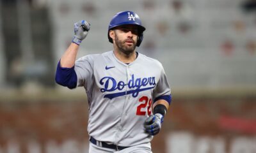
[[[136,52],[145,27],[133,11],[116,13],[108,27],[113,50],[76,61],[90,24],[74,24],[74,38],[58,62],[56,82],[84,87],[89,104],[90,153],[152,152],[171,102],[162,64]]]

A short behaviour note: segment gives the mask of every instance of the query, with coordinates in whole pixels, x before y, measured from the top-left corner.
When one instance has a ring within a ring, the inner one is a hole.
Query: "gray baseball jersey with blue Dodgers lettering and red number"
[[[88,133],[98,141],[120,146],[148,143],[143,124],[155,98],[170,95],[162,64],[143,54],[125,64],[113,51],[76,61],[77,86],[86,89]]]

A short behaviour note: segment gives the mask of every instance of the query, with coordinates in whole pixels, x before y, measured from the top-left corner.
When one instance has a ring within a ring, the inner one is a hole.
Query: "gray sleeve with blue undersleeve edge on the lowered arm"
[[[164,72],[164,68],[162,65],[161,65],[160,77],[157,82],[156,89],[153,92],[153,99],[154,99],[154,103],[159,99],[164,99],[169,104],[172,101],[171,89],[168,84],[168,81]]]

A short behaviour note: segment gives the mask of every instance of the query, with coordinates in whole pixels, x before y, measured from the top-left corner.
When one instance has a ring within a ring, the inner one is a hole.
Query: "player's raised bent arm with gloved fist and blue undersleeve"
[[[76,56],[79,45],[86,38],[90,24],[85,20],[81,20],[74,24],[74,38],[67,48],[66,52],[61,56],[56,69],[55,80],[58,84],[73,89],[77,85],[77,75],[74,69]]]

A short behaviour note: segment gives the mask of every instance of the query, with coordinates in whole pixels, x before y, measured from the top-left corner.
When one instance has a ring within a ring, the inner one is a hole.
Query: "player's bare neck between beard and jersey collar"
[[[122,61],[124,63],[130,63],[136,60],[135,50],[129,54],[125,54],[124,52],[115,49],[114,54],[119,61]]]

